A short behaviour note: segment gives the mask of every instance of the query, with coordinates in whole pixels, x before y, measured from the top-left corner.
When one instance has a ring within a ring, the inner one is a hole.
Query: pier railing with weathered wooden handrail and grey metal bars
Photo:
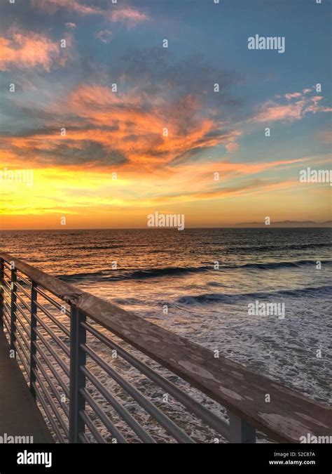
[[[217,351],[4,253],[0,279],[0,330],[57,442],[331,434],[330,407]]]

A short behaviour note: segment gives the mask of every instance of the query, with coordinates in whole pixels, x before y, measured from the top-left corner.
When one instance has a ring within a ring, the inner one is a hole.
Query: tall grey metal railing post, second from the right
[[[80,389],[85,388],[85,376],[80,367],[85,367],[86,355],[81,349],[85,344],[86,330],[82,323],[85,315],[71,305],[70,312],[70,381],[69,381],[69,442],[79,443],[80,433],[84,433],[85,423],[79,412],[85,409],[85,398]]]

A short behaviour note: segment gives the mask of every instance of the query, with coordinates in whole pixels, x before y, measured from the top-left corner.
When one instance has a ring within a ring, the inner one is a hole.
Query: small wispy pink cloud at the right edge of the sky
[[[252,122],[272,122],[272,121],[295,121],[305,117],[309,112],[316,114],[318,112],[332,112],[331,107],[321,106],[319,103],[322,96],[307,96],[310,89],[304,89],[303,92],[286,93],[284,98],[286,103],[279,104],[274,100],[268,100],[264,103],[258,114],[251,117]],[[277,98],[282,98],[277,96]]]

